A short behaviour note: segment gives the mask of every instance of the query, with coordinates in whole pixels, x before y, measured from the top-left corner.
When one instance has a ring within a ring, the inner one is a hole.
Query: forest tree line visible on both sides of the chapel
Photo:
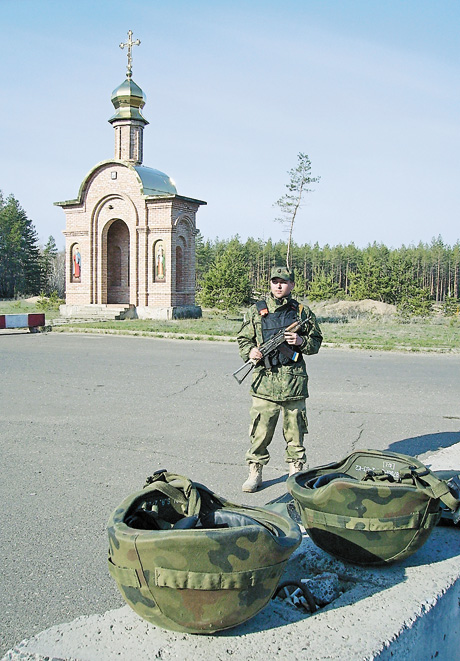
[[[460,304],[460,241],[441,236],[431,243],[388,248],[373,243],[299,245],[249,238],[196,238],[198,302],[231,309],[266,294],[270,270],[289,263],[296,296],[311,301],[371,298],[409,313],[429,311],[434,302],[453,310]],[[64,296],[64,253],[52,236],[38,244],[32,221],[13,195],[0,191],[0,298]]]

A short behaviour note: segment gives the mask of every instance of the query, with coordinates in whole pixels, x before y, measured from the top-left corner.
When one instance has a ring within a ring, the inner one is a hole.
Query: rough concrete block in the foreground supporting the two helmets
[[[460,446],[426,456],[433,470],[456,469]],[[272,601],[256,617],[214,635],[158,629],[129,606],[59,624],[7,652],[2,661],[134,659],[309,659],[340,661],[459,659],[460,527],[436,527],[404,562],[363,568],[343,563],[303,533],[283,581],[326,576],[339,595],[311,614]],[[332,578],[335,577],[335,578]]]

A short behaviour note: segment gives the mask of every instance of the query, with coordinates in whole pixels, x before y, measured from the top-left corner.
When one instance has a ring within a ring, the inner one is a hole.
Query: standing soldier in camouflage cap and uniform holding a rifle
[[[294,274],[286,267],[275,266],[271,271],[270,296],[249,308],[237,336],[242,359],[261,361],[258,346],[293,321],[308,320],[299,334],[287,332],[285,343],[270,354],[267,363],[261,361],[254,368],[251,447],[246,453],[249,477],[243,484],[243,491],[249,493],[262,485],[262,467],[270,459],[268,446],[281,410],[289,475],[301,471],[305,463],[303,437],[308,431],[305,405],[308,376],[303,354],[318,353],[323,336],[310,308],[292,298],[293,288]]]

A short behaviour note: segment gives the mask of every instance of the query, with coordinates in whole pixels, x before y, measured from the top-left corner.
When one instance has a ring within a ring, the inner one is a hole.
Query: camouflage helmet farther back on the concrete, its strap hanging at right
[[[457,512],[460,506],[420,461],[378,450],[297,473],[287,489],[313,542],[358,565],[412,555],[438,522],[441,502]]]

